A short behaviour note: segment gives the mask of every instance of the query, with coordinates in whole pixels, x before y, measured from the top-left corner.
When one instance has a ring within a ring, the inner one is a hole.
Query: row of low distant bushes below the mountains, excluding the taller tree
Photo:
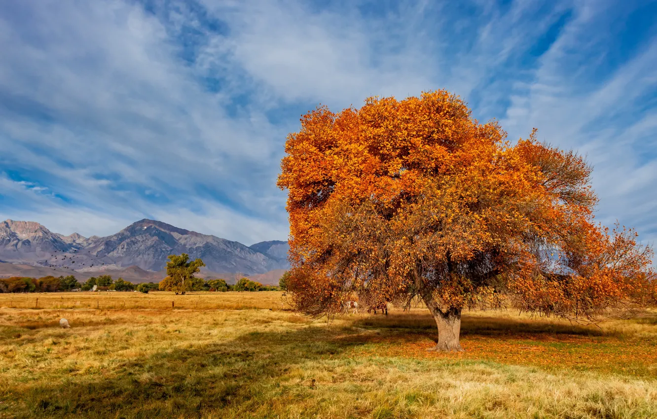
[[[43,276],[43,278],[29,278],[24,276],[12,276],[11,278],[0,278],[0,293],[6,292],[58,292],[58,291],[71,291],[93,290],[96,286],[97,290],[101,291],[134,291],[148,293],[153,290],[166,289],[164,281],[160,284],[153,282],[143,284],[133,284],[118,278],[113,280],[110,275],[92,276],[86,282],[80,283],[73,275],[68,276]],[[202,278],[192,278],[191,291],[278,291],[281,288],[278,286],[267,286],[260,284],[260,282],[252,281],[248,278],[241,278],[235,285],[228,284],[223,279],[210,279],[204,280]]]

